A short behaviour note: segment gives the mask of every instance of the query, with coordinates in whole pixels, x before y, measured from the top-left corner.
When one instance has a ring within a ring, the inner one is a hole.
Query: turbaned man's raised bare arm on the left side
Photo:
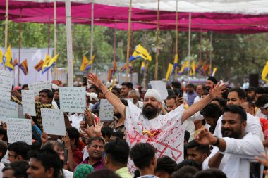
[[[97,75],[91,72],[89,75],[87,75],[87,79],[90,84],[95,84],[100,90],[102,90],[102,93],[104,94],[105,98],[111,103],[111,105],[114,106],[114,108],[116,108],[123,117],[126,117],[126,106],[121,102],[120,98],[109,91],[109,89],[102,83],[102,81],[98,79]]]

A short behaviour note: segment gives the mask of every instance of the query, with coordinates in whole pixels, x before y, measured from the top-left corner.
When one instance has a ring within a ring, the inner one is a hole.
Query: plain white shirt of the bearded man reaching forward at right
[[[260,139],[250,132],[243,139],[223,138],[226,141],[224,157],[221,159],[219,170],[226,174],[227,178],[249,178],[250,177],[250,160],[255,160],[255,156],[261,156],[264,153],[264,147]],[[203,170],[209,169],[208,162],[212,156],[219,151],[214,146],[212,153],[203,162]]]

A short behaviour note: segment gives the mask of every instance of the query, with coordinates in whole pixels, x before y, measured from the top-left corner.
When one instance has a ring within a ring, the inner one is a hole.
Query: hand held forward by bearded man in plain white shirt
[[[200,132],[195,136],[195,141],[201,145],[211,145],[217,142],[217,138],[213,136],[208,129],[200,129]]]

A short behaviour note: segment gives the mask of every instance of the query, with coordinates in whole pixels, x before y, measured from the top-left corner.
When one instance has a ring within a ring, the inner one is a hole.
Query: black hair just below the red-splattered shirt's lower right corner
[[[175,160],[172,160],[169,156],[164,155],[163,157],[157,158],[157,169],[155,172],[167,172],[172,174],[177,169]]]

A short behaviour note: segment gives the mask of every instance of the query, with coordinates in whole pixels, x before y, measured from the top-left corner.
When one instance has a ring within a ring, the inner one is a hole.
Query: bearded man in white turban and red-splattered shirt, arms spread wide
[[[157,157],[167,155],[177,163],[183,160],[184,128],[182,123],[191,115],[201,110],[213,98],[224,92],[223,85],[211,89],[209,95],[193,104],[187,110],[183,105],[178,106],[165,115],[161,115],[162,99],[155,89],[148,89],[145,94],[142,110],[128,101],[128,107],[123,105],[117,96],[98,79],[97,75],[87,75],[89,82],[102,90],[107,100],[118,110],[125,120],[126,141],[132,148],[137,143],[149,143],[157,149]],[[133,164],[128,165],[131,171],[135,170]]]

